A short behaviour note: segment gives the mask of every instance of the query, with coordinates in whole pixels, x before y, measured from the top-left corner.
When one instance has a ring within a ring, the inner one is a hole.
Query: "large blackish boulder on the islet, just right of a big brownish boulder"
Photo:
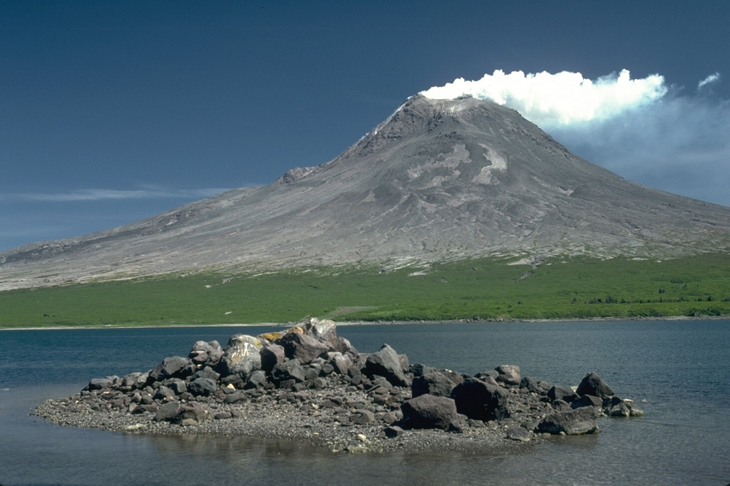
[[[491,385],[477,378],[465,378],[451,392],[456,409],[461,414],[477,420],[507,418],[508,393],[498,385]]]

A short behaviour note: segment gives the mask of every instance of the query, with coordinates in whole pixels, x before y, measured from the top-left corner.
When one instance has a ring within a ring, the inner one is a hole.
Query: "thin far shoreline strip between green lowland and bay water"
[[[565,319],[450,319],[450,320],[383,320],[383,321],[335,321],[338,326],[347,325],[410,325],[410,324],[520,324],[520,323],[610,323],[678,320],[730,320],[730,315],[720,316],[649,316],[649,317],[568,317]],[[0,331],[64,331],[73,329],[161,329],[161,328],[248,328],[248,327],[291,327],[294,323],[223,323],[223,324],[142,324],[142,325],[50,325],[31,327],[0,327]]]

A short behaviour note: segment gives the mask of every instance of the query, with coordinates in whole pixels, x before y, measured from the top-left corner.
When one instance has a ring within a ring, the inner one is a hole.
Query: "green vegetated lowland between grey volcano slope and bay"
[[[482,258],[381,269],[168,274],[0,292],[0,327],[730,315],[730,255]]]

